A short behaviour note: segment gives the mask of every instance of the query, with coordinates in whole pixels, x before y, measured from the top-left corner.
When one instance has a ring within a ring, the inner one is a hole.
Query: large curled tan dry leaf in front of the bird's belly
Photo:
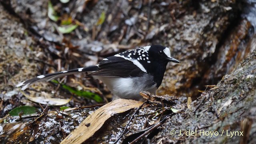
[[[132,108],[138,108],[142,104],[143,102],[126,99],[109,102],[88,116],[60,144],[81,144],[99,130],[104,122],[114,114],[126,112]]]

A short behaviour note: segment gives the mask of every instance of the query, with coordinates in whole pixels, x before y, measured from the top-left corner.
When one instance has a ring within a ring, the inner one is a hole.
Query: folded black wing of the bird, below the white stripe
[[[130,60],[121,57],[110,56],[98,64],[99,70],[89,74],[90,76],[111,76],[111,77],[136,77],[144,74],[138,66]]]

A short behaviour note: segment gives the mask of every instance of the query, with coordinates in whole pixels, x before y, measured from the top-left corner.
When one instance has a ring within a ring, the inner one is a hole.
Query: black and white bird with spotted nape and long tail
[[[106,84],[113,94],[113,99],[142,100],[139,95],[141,91],[156,94],[168,62],[180,63],[171,57],[169,48],[160,45],[144,46],[104,58],[95,66],[40,75],[16,87],[22,86],[21,90],[25,90],[35,82],[48,82],[70,74],[92,72],[86,77],[93,77]]]

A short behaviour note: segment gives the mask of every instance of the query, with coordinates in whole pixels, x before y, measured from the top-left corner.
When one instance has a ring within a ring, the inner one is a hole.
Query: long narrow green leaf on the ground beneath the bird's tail
[[[51,82],[59,84],[57,80],[51,80]],[[60,85],[62,88],[68,90],[72,94],[76,94],[77,96],[92,99],[92,100],[95,100],[96,102],[103,102],[103,99],[98,94],[94,94],[92,92],[87,92],[83,90],[76,90],[75,88],[67,86],[66,84],[60,84]]]

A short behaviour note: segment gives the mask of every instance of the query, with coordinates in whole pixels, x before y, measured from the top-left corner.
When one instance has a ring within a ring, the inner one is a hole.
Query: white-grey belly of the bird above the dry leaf
[[[141,91],[148,91],[156,94],[156,84],[153,84],[153,77],[144,76],[136,78],[119,78],[119,77],[104,77],[93,76],[101,80],[113,94],[113,99],[124,98],[133,100],[142,100]]]

